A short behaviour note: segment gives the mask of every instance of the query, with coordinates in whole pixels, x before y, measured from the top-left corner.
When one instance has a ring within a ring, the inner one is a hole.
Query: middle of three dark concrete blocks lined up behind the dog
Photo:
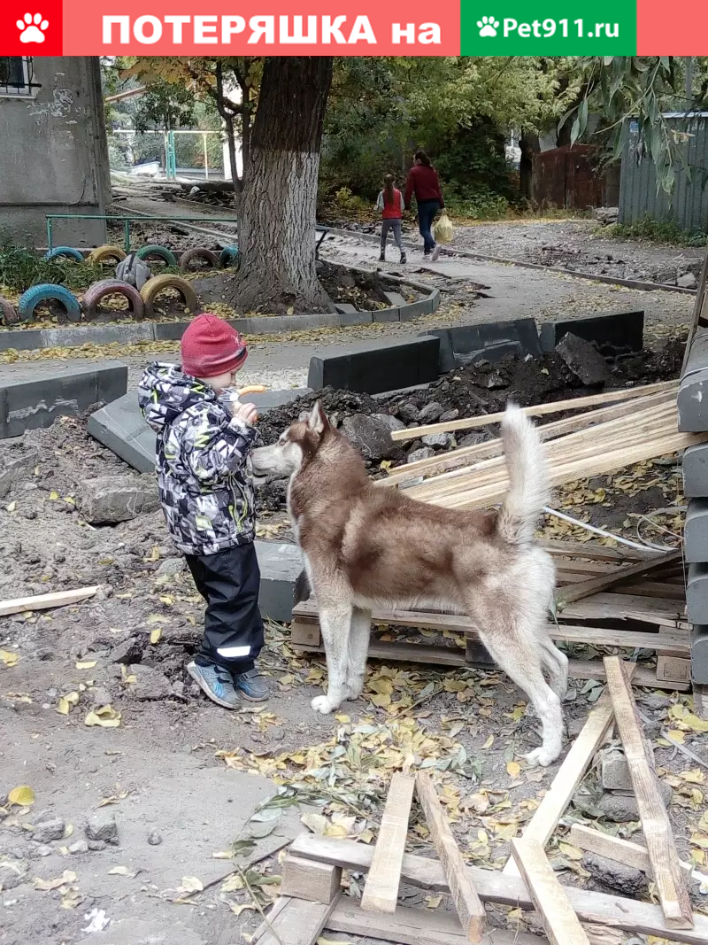
[[[465,355],[474,353],[491,361],[500,360],[506,353],[541,353],[538,332],[533,318],[514,318],[477,325],[459,325],[454,328],[434,329],[426,333],[440,338],[440,371],[446,373],[457,364],[469,363]],[[505,347],[500,347],[505,346]],[[489,354],[487,354],[489,350]],[[458,361],[458,357],[460,360]]]

